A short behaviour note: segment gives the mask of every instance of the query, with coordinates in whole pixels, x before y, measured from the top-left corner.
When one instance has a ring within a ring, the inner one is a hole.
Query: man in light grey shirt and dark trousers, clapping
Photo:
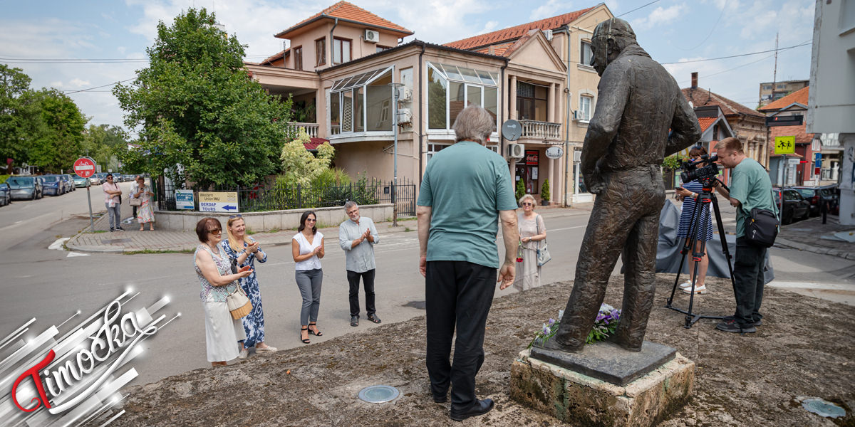
[[[357,202],[346,202],[345,213],[350,219],[339,225],[339,245],[345,251],[345,271],[351,285],[351,326],[359,326],[359,278],[365,286],[365,313],[374,323],[380,323],[374,307],[374,245],[380,235],[374,220],[359,216]]]

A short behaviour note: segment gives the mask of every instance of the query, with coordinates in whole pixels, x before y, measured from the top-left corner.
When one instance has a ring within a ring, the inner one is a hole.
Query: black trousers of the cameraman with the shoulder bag
[[[736,238],[734,257],[734,289],[736,297],[736,322],[751,325],[763,319],[760,303],[763,302],[763,267],[766,249],[748,242],[746,237]]]

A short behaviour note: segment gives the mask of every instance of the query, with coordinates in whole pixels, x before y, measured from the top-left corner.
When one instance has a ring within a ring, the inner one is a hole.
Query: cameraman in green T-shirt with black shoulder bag
[[[730,204],[736,208],[736,313],[734,316],[726,316],[722,323],[716,325],[716,329],[725,332],[757,332],[755,326],[761,325],[763,319],[760,302],[763,301],[766,249],[748,242],[745,237],[746,218],[750,218],[753,208],[775,209],[772,183],[766,169],[757,161],[746,157],[739,139],[722,139],[716,144],[716,155],[722,167],[734,170],[729,192],[722,188],[722,185],[717,185],[717,181],[716,190],[730,199]]]

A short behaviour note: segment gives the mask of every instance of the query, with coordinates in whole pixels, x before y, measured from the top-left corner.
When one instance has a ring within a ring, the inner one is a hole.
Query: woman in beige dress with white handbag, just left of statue
[[[520,197],[522,212],[516,214],[516,224],[520,229],[520,249],[522,260],[517,255],[516,290],[530,290],[540,286],[540,266],[537,265],[537,249],[540,241],[546,238],[546,225],[543,217],[534,213],[534,196]]]

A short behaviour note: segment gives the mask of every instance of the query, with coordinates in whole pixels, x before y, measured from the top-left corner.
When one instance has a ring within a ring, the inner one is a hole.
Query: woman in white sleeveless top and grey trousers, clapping
[[[318,308],[321,307],[321,258],[324,255],[323,234],[317,231],[317,216],[312,211],[300,217],[298,233],[291,240],[291,252],[294,256],[294,278],[303,296],[303,308],[300,310],[300,341],[309,343],[309,334],[323,335],[318,330]]]

